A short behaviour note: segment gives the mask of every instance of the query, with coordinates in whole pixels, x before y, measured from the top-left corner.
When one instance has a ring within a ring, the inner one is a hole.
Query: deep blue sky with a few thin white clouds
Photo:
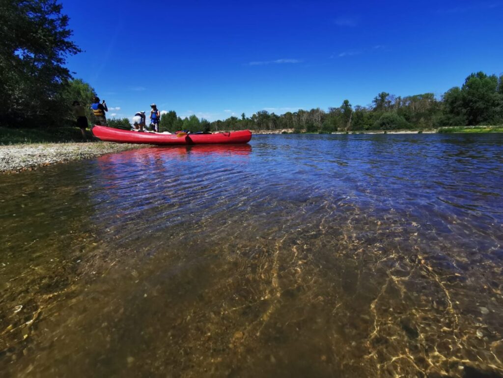
[[[326,110],[503,73],[503,0],[61,3],[84,50],[67,66],[109,117]]]

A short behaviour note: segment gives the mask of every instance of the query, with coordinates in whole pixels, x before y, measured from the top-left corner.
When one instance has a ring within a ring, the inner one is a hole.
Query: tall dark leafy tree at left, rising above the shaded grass
[[[56,0],[0,2],[0,123],[59,120],[63,87],[71,78],[65,58],[80,52],[69,40],[61,8]]]

